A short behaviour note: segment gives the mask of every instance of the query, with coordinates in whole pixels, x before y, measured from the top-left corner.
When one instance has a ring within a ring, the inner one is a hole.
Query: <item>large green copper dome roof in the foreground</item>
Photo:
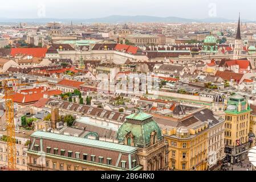
[[[126,122],[117,131],[119,142],[125,143],[127,135],[131,134],[134,137],[134,146],[143,148],[150,144],[152,132],[156,132],[156,138],[161,139],[161,129],[153,120],[152,115],[138,111],[128,115],[126,119]]]

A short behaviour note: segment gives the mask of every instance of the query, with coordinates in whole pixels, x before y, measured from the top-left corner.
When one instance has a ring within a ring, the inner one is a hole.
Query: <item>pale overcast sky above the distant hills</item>
[[[102,18],[109,15],[255,20],[254,0],[8,0],[1,18]]]

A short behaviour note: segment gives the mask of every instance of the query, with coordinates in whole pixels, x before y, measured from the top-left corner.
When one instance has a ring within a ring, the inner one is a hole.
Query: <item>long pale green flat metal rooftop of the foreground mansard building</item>
[[[137,148],[135,147],[124,146],[117,143],[103,142],[99,140],[91,140],[91,139],[79,138],[79,137],[71,137],[67,135],[59,135],[59,134],[47,133],[43,131],[36,131],[31,135],[31,137],[58,140],[60,142],[70,142],[74,144],[82,144],[84,146],[106,148],[109,150],[116,150],[116,151],[127,152],[127,153],[131,153],[137,150]]]

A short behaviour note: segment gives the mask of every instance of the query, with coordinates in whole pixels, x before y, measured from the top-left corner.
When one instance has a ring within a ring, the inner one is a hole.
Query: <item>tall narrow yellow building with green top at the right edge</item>
[[[225,111],[225,153],[227,162],[238,163],[246,159],[250,147],[250,106],[242,96],[229,98]]]

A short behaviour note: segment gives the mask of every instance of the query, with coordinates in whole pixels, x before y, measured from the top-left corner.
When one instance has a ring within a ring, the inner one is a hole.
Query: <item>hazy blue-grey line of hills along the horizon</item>
[[[237,20],[225,19],[225,18],[205,18],[205,19],[188,19],[179,18],[175,16],[159,17],[159,16],[123,16],[123,15],[112,15],[104,18],[90,18],[90,19],[57,19],[57,18],[34,18],[34,19],[9,19],[0,18],[2,24],[15,24],[15,23],[35,23],[44,24],[47,22],[63,22],[63,23],[231,23],[237,22]],[[251,20],[243,20],[242,22],[253,22]]]

